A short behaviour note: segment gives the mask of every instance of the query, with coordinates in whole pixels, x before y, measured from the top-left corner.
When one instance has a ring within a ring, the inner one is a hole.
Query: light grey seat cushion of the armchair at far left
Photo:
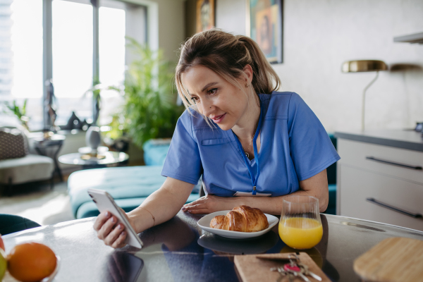
[[[49,157],[27,154],[23,158],[0,161],[0,183],[12,184],[50,179],[54,171],[54,161]]]

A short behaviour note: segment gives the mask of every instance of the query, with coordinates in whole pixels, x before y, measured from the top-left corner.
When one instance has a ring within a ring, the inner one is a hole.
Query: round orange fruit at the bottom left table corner
[[[39,243],[24,243],[13,247],[7,256],[11,276],[23,282],[36,282],[56,269],[56,255]]]

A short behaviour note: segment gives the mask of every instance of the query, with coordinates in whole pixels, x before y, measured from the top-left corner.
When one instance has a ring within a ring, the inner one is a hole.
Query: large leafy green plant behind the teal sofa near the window
[[[134,55],[121,87],[109,87],[123,93],[123,111],[110,124],[109,135],[127,134],[138,147],[150,139],[172,137],[184,108],[176,104],[173,68],[162,51],[152,51],[135,39],[126,37]]]

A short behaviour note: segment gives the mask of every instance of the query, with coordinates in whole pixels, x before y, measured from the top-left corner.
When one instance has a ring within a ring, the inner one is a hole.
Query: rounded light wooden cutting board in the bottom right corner
[[[423,281],[423,241],[387,238],[355,259],[354,271],[364,281]]]

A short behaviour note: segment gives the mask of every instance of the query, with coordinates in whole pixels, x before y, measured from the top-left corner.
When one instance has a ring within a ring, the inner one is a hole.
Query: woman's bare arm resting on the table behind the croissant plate
[[[308,195],[319,199],[320,212],[326,211],[329,202],[328,178],[326,169],[315,176],[300,181],[300,190],[290,195]],[[207,195],[183,206],[183,211],[192,214],[209,214],[221,210],[230,210],[245,204],[261,209],[266,214],[281,214],[282,199],[278,197],[217,197]]]

